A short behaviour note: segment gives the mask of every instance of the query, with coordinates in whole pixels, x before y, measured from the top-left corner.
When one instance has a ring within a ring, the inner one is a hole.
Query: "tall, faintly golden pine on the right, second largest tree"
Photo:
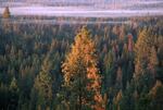
[[[153,77],[156,72],[156,51],[153,44],[152,28],[143,28],[139,33],[138,40],[135,46],[135,84],[139,91],[139,99],[137,102],[138,110],[148,110],[150,107],[150,100],[147,96],[148,91],[152,87],[155,78]],[[153,73],[153,75],[151,75]]]

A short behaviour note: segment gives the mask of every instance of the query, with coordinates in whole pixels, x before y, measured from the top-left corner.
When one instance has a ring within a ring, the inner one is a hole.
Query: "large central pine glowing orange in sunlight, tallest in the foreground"
[[[86,27],[75,37],[70,53],[62,64],[64,87],[71,110],[102,109],[95,42]]]

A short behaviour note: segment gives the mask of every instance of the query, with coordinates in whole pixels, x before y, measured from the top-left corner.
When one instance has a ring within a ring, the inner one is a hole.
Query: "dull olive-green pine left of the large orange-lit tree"
[[[37,95],[37,103],[36,107],[40,108],[49,108],[51,106],[52,100],[52,80],[50,74],[50,63],[48,63],[47,59],[43,61],[43,65],[41,66],[40,73],[35,78],[33,96]],[[37,93],[37,94],[36,94]],[[35,100],[35,99],[34,99]]]

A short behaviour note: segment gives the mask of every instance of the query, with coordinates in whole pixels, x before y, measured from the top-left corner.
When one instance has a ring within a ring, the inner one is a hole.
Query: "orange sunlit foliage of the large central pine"
[[[78,76],[76,78],[91,80],[91,82],[87,82],[86,88],[87,90],[95,91],[96,105],[92,108],[95,110],[102,110],[99,109],[102,108],[102,97],[100,95],[101,77],[97,65],[96,45],[91,40],[89,32],[83,27],[80,33],[75,37],[75,42],[72,45],[71,51],[62,64],[64,85],[70,86],[71,80],[75,76]]]

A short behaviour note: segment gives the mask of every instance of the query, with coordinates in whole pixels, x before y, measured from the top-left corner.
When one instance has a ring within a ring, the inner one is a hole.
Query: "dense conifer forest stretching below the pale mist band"
[[[0,110],[163,110],[163,16],[13,19],[33,23],[0,20]]]

